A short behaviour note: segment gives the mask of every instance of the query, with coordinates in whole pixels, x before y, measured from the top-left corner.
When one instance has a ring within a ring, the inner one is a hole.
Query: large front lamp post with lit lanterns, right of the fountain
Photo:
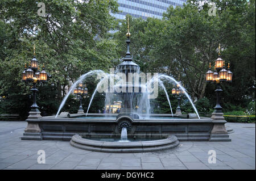
[[[213,121],[225,121],[220,105],[221,92],[223,91],[221,89],[221,83],[232,82],[233,73],[230,71],[230,64],[228,64],[228,70],[225,69],[225,61],[222,60],[220,56],[220,44],[218,45],[218,58],[214,62],[214,71],[210,70],[211,65],[209,64],[209,69],[207,73],[205,73],[206,81],[216,83],[217,86],[217,89],[215,90],[216,106],[214,107],[212,117],[210,118],[213,119]],[[220,136],[220,134],[222,136]],[[228,137],[228,132],[226,131],[224,124],[214,124],[209,141],[231,141]]]

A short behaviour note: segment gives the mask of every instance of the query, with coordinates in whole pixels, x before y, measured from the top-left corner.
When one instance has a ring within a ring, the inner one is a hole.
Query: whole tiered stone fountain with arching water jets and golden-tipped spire
[[[150,74],[147,76],[147,83],[143,82],[142,78],[140,82],[136,81],[135,77],[129,79],[131,74],[143,74],[140,73],[139,66],[131,58],[129,31],[126,36],[126,56],[117,66],[115,72],[111,73],[110,71],[110,74],[106,74],[102,70],[93,70],[81,75],[61,102],[56,116],[27,119],[31,125],[40,127],[40,131],[26,132],[23,134],[22,140],[68,140],[76,148],[112,153],[170,149],[179,145],[179,141],[230,141],[228,134],[224,135],[223,132],[216,134],[216,131],[214,134],[212,133],[214,126],[217,125],[217,127],[222,128],[226,121],[199,117],[187,91],[174,78],[164,74],[154,74],[152,77]],[[86,77],[93,74],[104,74],[105,78],[100,78],[87,112],[60,113],[77,83],[84,81]],[[122,76],[125,78],[122,79]],[[143,76],[146,77],[146,75]],[[102,89],[102,85],[106,81],[114,80],[117,80],[117,83],[110,83],[110,86],[104,87],[106,92],[105,104],[109,104],[114,97],[117,97],[122,102],[121,111],[119,113],[88,113],[94,95],[100,92],[99,90]],[[175,82],[180,86],[191,102],[197,117],[187,118],[187,115],[172,113],[170,99],[163,80]],[[149,97],[154,96],[155,91],[158,91],[158,84],[166,94],[170,106],[170,113],[168,114],[151,113]],[[152,85],[154,89],[152,89]],[[155,89],[156,86],[157,89]]]

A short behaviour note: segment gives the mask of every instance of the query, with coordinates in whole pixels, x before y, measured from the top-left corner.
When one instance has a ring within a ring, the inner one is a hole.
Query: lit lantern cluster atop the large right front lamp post
[[[230,64],[228,64],[228,70],[225,69],[225,61],[220,57],[220,44],[218,45],[218,58],[215,60],[214,71],[210,70],[211,65],[206,74],[207,82],[232,82],[233,73],[230,71]]]

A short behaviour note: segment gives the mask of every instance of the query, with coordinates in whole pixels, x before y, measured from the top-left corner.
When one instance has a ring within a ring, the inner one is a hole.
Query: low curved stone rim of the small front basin
[[[89,138],[83,138],[82,135],[75,134],[71,138],[70,144],[76,148],[90,151],[109,153],[141,153],[175,148],[179,145],[179,141],[174,135],[168,136],[160,140],[114,142],[91,140]]]

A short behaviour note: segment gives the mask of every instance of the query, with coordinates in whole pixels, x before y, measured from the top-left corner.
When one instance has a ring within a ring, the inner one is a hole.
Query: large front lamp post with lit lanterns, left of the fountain
[[[38,89],[36,88],[37,83],[42,83],[42,82],[47,82],[47,73],[44,70],[44,64],[43,64],[43,69],[42,71],[39,71],[39,62],[36,60],[35,57],[35,45],[34,45],[34,57],[30,61],[30,64],[27,69],[27,65],[25,64],[25,69],[22,72],[22,81],[27,83],[28,85],[31,85],[32,83],[32,88],[31,91],[33,93],[33,104],[31,106],[31,111],[29,112],[29,116],[27,120],[35,120],[38,119],[39,117],[42,117],[40,115],[40,111],[38,110],[38,105],[36,104],[36,92]],[[29,140],[30,139],[30,134],[33,133],[32,136],[37,137],[38,140],[42,140],[42,136],[40,135],[41,129],[38,125],[38,123],[28,123],[27,128],[24,131],[24,136],[22,137],[22,140]],[[35,135],[35,133],[38,133],[38,136]]]

